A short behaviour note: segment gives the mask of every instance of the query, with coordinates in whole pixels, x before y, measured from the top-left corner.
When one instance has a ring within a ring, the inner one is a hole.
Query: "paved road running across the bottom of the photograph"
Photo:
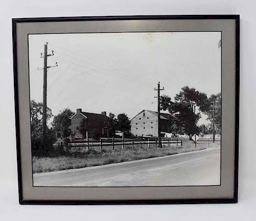
[[[66,171],[36,173],[34,186],[190,186],[220,184],[220,148]]]

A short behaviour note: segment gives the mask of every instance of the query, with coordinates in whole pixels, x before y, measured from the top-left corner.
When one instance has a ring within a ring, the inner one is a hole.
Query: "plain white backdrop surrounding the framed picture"
[[[12,0],[0,7],[1,220],[255,220],[256,3],[253,0]],[[226,205],[20,206],[12,71],[12,17],[240,14],[239,203]]]

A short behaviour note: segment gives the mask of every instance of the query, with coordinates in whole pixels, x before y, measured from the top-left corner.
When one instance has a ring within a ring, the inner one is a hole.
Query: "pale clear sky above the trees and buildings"
[[[174,100],[185,85],[207,96],[221,92],[221,32],[30,34],[30,99],[42,102],[48,42],[47,106],[133,118],[157,111],[157,92]],[[200,124],[209,123],[202,115]]]

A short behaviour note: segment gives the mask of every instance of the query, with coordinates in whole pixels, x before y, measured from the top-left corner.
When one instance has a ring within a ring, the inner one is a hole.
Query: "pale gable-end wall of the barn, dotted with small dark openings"
[[[143,116],[145,114],[145,116]],[[131,120],[131,133],[134,136],[158,136],[157,117],[147,111],[141,112]]]

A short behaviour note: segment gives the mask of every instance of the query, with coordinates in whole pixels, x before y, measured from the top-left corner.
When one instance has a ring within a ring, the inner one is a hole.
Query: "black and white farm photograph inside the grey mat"
[[[29,34],[33,186],[220,185],[221,32]]]

